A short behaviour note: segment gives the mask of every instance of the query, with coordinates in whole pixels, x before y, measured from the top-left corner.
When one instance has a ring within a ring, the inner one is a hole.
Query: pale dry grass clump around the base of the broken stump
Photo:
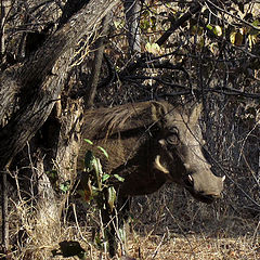
[[[29,207],[25,202],[15,204],[11,219],[11,240],[15,245],[12,256],[15,260],[53,259],[52,250],[58,248],[62,240],[78,240],[84,249],[92,251],[92,246],[88,243],[91,232],[84,224],[79,226],[76,221],[70,223],[64,219],[61,227],[54,229],[50,224],[39,222],[36,207]]]

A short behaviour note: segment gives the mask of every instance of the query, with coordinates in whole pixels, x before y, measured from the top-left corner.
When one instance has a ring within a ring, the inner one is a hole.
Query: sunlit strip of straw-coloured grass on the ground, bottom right
[[[139,246],[138,246],[139,245]],[[136,235],[131,240],[131,255],[141,259],[259,259],[259,244],[247,236],[237,238],[206,237],[205,234],[171,234],[169,237]],[[140,253],[140,252],[141,253]]]

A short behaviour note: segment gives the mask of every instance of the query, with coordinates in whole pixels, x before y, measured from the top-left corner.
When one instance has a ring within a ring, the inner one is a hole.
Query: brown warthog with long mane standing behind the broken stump
[[[203,155],[200,110],[196,105],[187,115],[167,102],[150,101],[87,112],[83,138],[107,151],[105,172],[125,178],[117,183],[119,200],[154,193],[166,182],[182,185],[203,203],[220,197],[224,178],[212,173]]]

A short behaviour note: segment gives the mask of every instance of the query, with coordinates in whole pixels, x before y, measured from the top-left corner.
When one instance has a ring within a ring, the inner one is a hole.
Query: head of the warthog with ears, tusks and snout
[[[169,106],[160,107],[160,112],[154,107],[153,113],[161,121],[158,138],[161,150],[155,157],[154,167],[169,181],[184,186],[196,199],[212,203],[220,197],[225,177],[212,173],[202,152],[204,140],[198,125],[202,105],[196,105],[191,115]]]

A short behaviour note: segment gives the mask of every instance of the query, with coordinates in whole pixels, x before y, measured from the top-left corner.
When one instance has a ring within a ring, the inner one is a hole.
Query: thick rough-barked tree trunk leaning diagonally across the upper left
[[[76,47],[83,35],[90,35],[94,26],[118,1],[91,1],[47,40],[31,58],[13,72],[15,78],[8,70],[0,76],[1,92],[9,88],[14,91],[21,89],[23,98],[20,109],[0,130],[1,169],[25,146],[49,117],[69,70],[72,48]],[[2,98],[0,96],[0,104],[4,103]],[[3,108],[6,109],[8,105]],[[5,113],[8,112],[2,112],[3,115]]]

